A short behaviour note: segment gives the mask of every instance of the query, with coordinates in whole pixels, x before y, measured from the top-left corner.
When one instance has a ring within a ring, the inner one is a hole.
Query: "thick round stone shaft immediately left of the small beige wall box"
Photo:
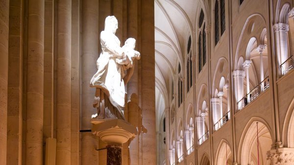
[[[45,1],[28,1],[26,72],[26,165],[43,164]]]

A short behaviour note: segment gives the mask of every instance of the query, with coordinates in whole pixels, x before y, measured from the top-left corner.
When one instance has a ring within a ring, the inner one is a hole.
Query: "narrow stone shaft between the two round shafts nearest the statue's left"
[[[71,165],[79,165],[80,0],[72,0]]]

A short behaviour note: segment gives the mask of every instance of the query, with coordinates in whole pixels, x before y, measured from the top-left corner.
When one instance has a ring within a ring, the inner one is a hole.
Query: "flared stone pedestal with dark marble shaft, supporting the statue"
[[[135,126],[122,119],[93,119],[92,133],[107,143],[107,165],[122,165],[122,145],[135,137]]]

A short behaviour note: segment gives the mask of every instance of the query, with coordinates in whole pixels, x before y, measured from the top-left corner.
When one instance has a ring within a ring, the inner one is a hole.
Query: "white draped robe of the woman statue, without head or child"
[[[100,33],[100,43],[102,52],[96,62],[98,71],[92,77],[90,86],[96,87],[97,90],[101,89],[120,113],[114,112],[113,115],[116,117],[122,115],[118,118],[123,118],[125,90],[122,76],[124,71],[123,67],[115,61],[116,58],[123,56],[123,49],[120,47],[118,37],[108,31]]]

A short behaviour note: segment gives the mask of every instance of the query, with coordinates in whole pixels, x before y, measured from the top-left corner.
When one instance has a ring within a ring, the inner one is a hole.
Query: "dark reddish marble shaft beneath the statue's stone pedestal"
[[[107,164],[106,165],[122,165],[122,146],[107,145]]]

